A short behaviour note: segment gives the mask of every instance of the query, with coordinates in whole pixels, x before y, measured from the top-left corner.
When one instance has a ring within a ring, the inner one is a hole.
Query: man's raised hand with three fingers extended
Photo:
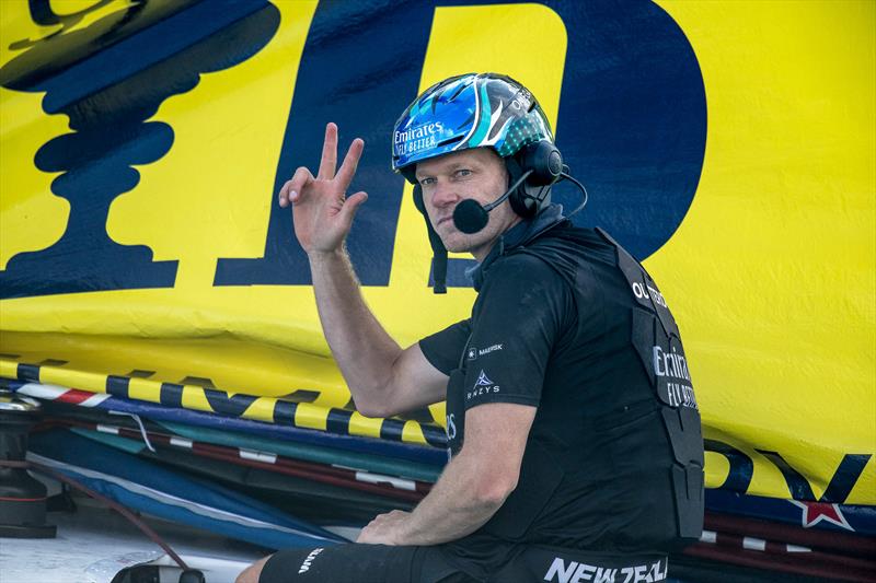
[[[362,154],[365,142],[356,138],[344,163],[337,166],[337,126],[325,127],[320,173],[314,177],[306,167],[295,172],[280,189],[280,207],[292,205],[295,236],[306,253],[332,253],[341,249],[365,193],[346,198],[346,191]]]

